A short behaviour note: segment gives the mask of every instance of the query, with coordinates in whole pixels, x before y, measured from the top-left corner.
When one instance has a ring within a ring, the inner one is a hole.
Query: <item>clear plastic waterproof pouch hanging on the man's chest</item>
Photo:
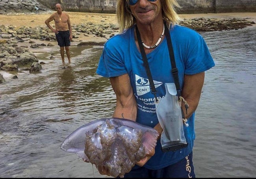
[[[156,103],[156,114],[163,128],[162,151],[176,151],[187,146],[183,130],[181,107],[174,83],[165,83],[166,96]]]

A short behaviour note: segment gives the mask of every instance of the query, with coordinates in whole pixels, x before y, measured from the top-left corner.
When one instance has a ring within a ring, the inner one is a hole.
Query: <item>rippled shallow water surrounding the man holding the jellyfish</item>
[[[255,175],[255,32],[254,26],[201,33],[216,66],[206,72],[196,113],[197,177]],[[41,73],[0,84],[0,177],[106,177],[60,149],[76,128],[113,113],[109,80],[95,73],[101,51],[72,46],[72,63],[62,68],[59,52],[49,50],[37,55],[46,63]]]

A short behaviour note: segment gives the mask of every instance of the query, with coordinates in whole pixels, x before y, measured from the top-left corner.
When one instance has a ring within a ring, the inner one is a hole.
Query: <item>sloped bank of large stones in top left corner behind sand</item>
[[[51,9],[37,0],[0,0],[0,14],[9,13],[50,13]]]

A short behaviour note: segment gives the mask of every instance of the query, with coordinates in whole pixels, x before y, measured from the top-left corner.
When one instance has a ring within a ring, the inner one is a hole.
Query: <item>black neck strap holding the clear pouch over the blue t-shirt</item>
[[[171,42],[170,32],[169,32],[169,29],[167,28],[167,24],[166,24],[165,21],[164,21],[164,25],[165,25],[165,35],[166,35],[167,44],[168,44],[169,56],[170,56],[170,60],[171,60],[171,67],[172,67],[171,73],[173,74],[174,83],[175,83],[175,86],[176,86],[178,97],[180,97],[181,96],[181,89],[180,89],[180,82],[179,82],[179,77],[178,77],[178,69],[176,68],[176,63],[175,63],[174,54],[173,54],[173,45],[172,45],[172,42]],[[158,99],[157,99],[157,96],[156,96],[156,88],[155,88],[155,85],[154,85],[154,81],[152,79],[152,75],[151,75],[150,68],[149,68],[149,65],[148,65],[147,55],[145,53],[145,50],[144,50],[144,47],[143,47],[143,44],[142,44],[142,41],[141,41],[141,35],[139,33],[139,30],[138,30],[137,26],[135,26],[135,30],[136,30],[136,34],[137,34],[138,43],[139,43],[139,49],[141,51],[143,63],[144,63],[146,73],[147,73],[147,76],[148,76],[150,89],[151,89],[152,94],[154,94],[154,96],[155,96],[156,103],[158,103]]]

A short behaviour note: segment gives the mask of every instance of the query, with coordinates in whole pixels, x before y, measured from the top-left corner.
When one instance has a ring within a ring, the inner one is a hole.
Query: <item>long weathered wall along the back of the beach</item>
[[[38,0],[54,10],[61,3],[65,11],[115,13],[116,0]],[[256,12],[256,0],[177,0],[180,14]]]

